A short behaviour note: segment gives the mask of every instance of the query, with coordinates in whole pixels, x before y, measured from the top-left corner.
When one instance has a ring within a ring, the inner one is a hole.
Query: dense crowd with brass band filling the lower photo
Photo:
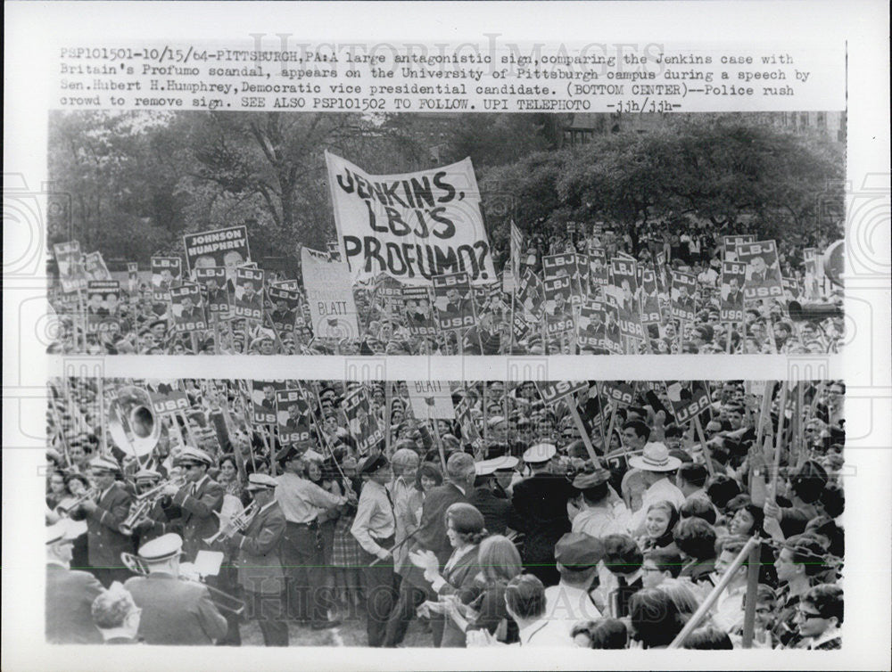
[[[467,412],[434,421],[372,383],[368,443],[355,384],[303,381],[284,442],[235,381],[178,381],[148,450],[103,421],[125,383],[150,384],[51,385],[50,642],[237,645],[252,619],[283,646],[356,618],[375,647],[413,621],[437,647],[841,645],[841,382],[706,382],[684,422],[662,384],[453,384]]]

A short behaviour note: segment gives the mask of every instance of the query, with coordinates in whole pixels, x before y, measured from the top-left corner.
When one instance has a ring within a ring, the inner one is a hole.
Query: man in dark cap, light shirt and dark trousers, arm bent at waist
[[[360,464],[359,473],[368,475],[368,481],[359,496],[350,531],[365,551],[362,573],[366,580],[368,645],[381,646],[398,596],[391,553],[396,520],[390,493],[384,487],[391,478],[390,463],[384,455],[369,455]]]

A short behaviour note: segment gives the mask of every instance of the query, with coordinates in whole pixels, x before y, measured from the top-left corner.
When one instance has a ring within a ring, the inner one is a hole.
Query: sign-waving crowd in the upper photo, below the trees
[[[296,268],[289,273],[266,271],[265,288],[259,288],[263,296],[262,309],[257,306],[260,319],[211,313],[210,305],[219,297],[209,299],[206,291],[202,306],[193,305],[194,297],[186,297],[188,314],[200,315],[204,321],[196,318],[191,324],[197,326],[183,330],[178,323],[186,313],[175,316],[170,301],[159,300],[158,287],[144,270],[134,275],[134,283],[121,283],[120,299],[118,294],[95,295],[100,304],[103,296],[111,296],[111,315],[102,306],[92,307],[90,299],[54,286],[50,299],[59,321],[49,349],[93,355],[837,352],[845,339],[842,289],[823,273],[821,261],[834,239],[789,235],[778,240],[772,267],[782,287],[778,284],[762,298],[747,298],[731,319],[723,301],[729,291],[744,289],[738,280],[723,284],[723,260],[733,258],[726,238],[735,235],[760,240],[756,231],[742,225],[718,231],[691,223],[662,222],[579,225],[579,230],[564,234],[519,234],[513,255],[510,246],[495,252],[496,266],[502,269],[500,279],[476,287],[466,297],[473,304],[473,320],[462,323],[460,329],[441,328],[432,293],[426,299],[409,293],[403,297],[399,283],[380,276],[353,286],[358,333],[314,333],[301,270]],[[805,256],[806,251],[810,256]],[[549,298],[542,281],[549,277],[544,267],[547,258],[566,254],[574,255],[578,266],[570,272],[574,297],[566,300],[565,307],[566,297]],[[640,278],[637,287],[624,287],[612,275],[611,263],[618,258],[634,262]],[[594,278],[598,267],[604,269],[603,283]],[[524,281],[526,271],[533,275],[531,282]],[[642,283],[645,271],[655,275],[652,286]],[[671,286],[676,275],[691,278],[690,290],[679,299],[687,302],[683,307],[687,312],[673,312]],[[301,294],[298,306],[270,297],[271,288],[288,280]],[[392,291],[394,288],[397,291]],[[226,287],[214,289],[215,293],[221,291],[231,305],[235,292],[231,277]],[[623,307],[625,300],[630,307]],[[618,316],[602,303],[619,307]],[[584,316],[583,306],[587,307]],[[802,310],[803,306],[807,309]],[[566,316],[562,314],[565,308]],[[102,328],[91,322],[94,313],[102,314]],[[562,317],[566,319],[562,321]]]

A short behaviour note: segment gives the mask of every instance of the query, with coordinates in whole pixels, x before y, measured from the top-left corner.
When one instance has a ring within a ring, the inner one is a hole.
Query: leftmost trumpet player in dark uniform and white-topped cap
[[[127,520],[133,497],[115,481],[120,466],[111,458],[96,457],[90,461],[90,473],[97,499],[87,498],[71,512],[73,520],[87,519],[87,555],[90,571],[103,586],[114,581],[126,581],[130,575],[121,566],[120,554],[133,550],[130,537],[120,532],[120,524]]]

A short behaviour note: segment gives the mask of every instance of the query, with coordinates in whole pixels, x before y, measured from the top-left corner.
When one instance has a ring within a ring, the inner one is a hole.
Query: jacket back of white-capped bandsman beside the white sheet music
[[[227,620],[207,586],[169,574],[128,578],[124,587],[143,610],[137,635],[147,644],[209,646],[227,633]]]

